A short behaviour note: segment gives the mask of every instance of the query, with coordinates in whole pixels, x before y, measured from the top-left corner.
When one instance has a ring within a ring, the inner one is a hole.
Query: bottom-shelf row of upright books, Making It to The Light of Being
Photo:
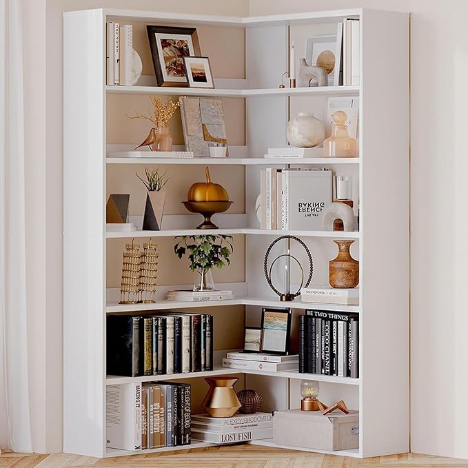
[[[190,385],[148,382],[106,387],[107,447],[123,450],[190,445]]]

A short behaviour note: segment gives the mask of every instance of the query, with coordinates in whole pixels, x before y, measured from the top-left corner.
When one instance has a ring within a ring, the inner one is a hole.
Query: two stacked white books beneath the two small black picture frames
[[[281,356],[278,354],[232,352],[227,353],[226,357],[223,358],[223,367],[265,372],[296,371],[299,368],[299,356],[298,354]]]

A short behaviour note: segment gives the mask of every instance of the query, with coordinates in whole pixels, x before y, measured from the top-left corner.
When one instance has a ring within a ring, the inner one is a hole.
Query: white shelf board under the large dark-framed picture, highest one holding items
[[[358,96],[359,86],[316,86],[312,88],[258,88],[254,90],[223,90],[216,88],[172,88],[164,86],[119,86],[106,85],[107,92],[121,94],[165,94],[168,96],[212,96],[212,97],[255,97],[255,96],[303,96],[325,94],[330,96]]]

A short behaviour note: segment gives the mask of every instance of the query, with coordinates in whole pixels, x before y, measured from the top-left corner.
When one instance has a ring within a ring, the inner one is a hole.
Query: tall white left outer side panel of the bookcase
[[[103,456],[104,18],[63,15],[63,451]]]

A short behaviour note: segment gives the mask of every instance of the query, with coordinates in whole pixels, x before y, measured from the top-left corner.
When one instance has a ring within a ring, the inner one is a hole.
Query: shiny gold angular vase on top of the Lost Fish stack
[[[241,407],[234,391],[234,384],[238,377],[206,377],[205,381],[210,389],[201,407],[213,418],[230,418]]]

